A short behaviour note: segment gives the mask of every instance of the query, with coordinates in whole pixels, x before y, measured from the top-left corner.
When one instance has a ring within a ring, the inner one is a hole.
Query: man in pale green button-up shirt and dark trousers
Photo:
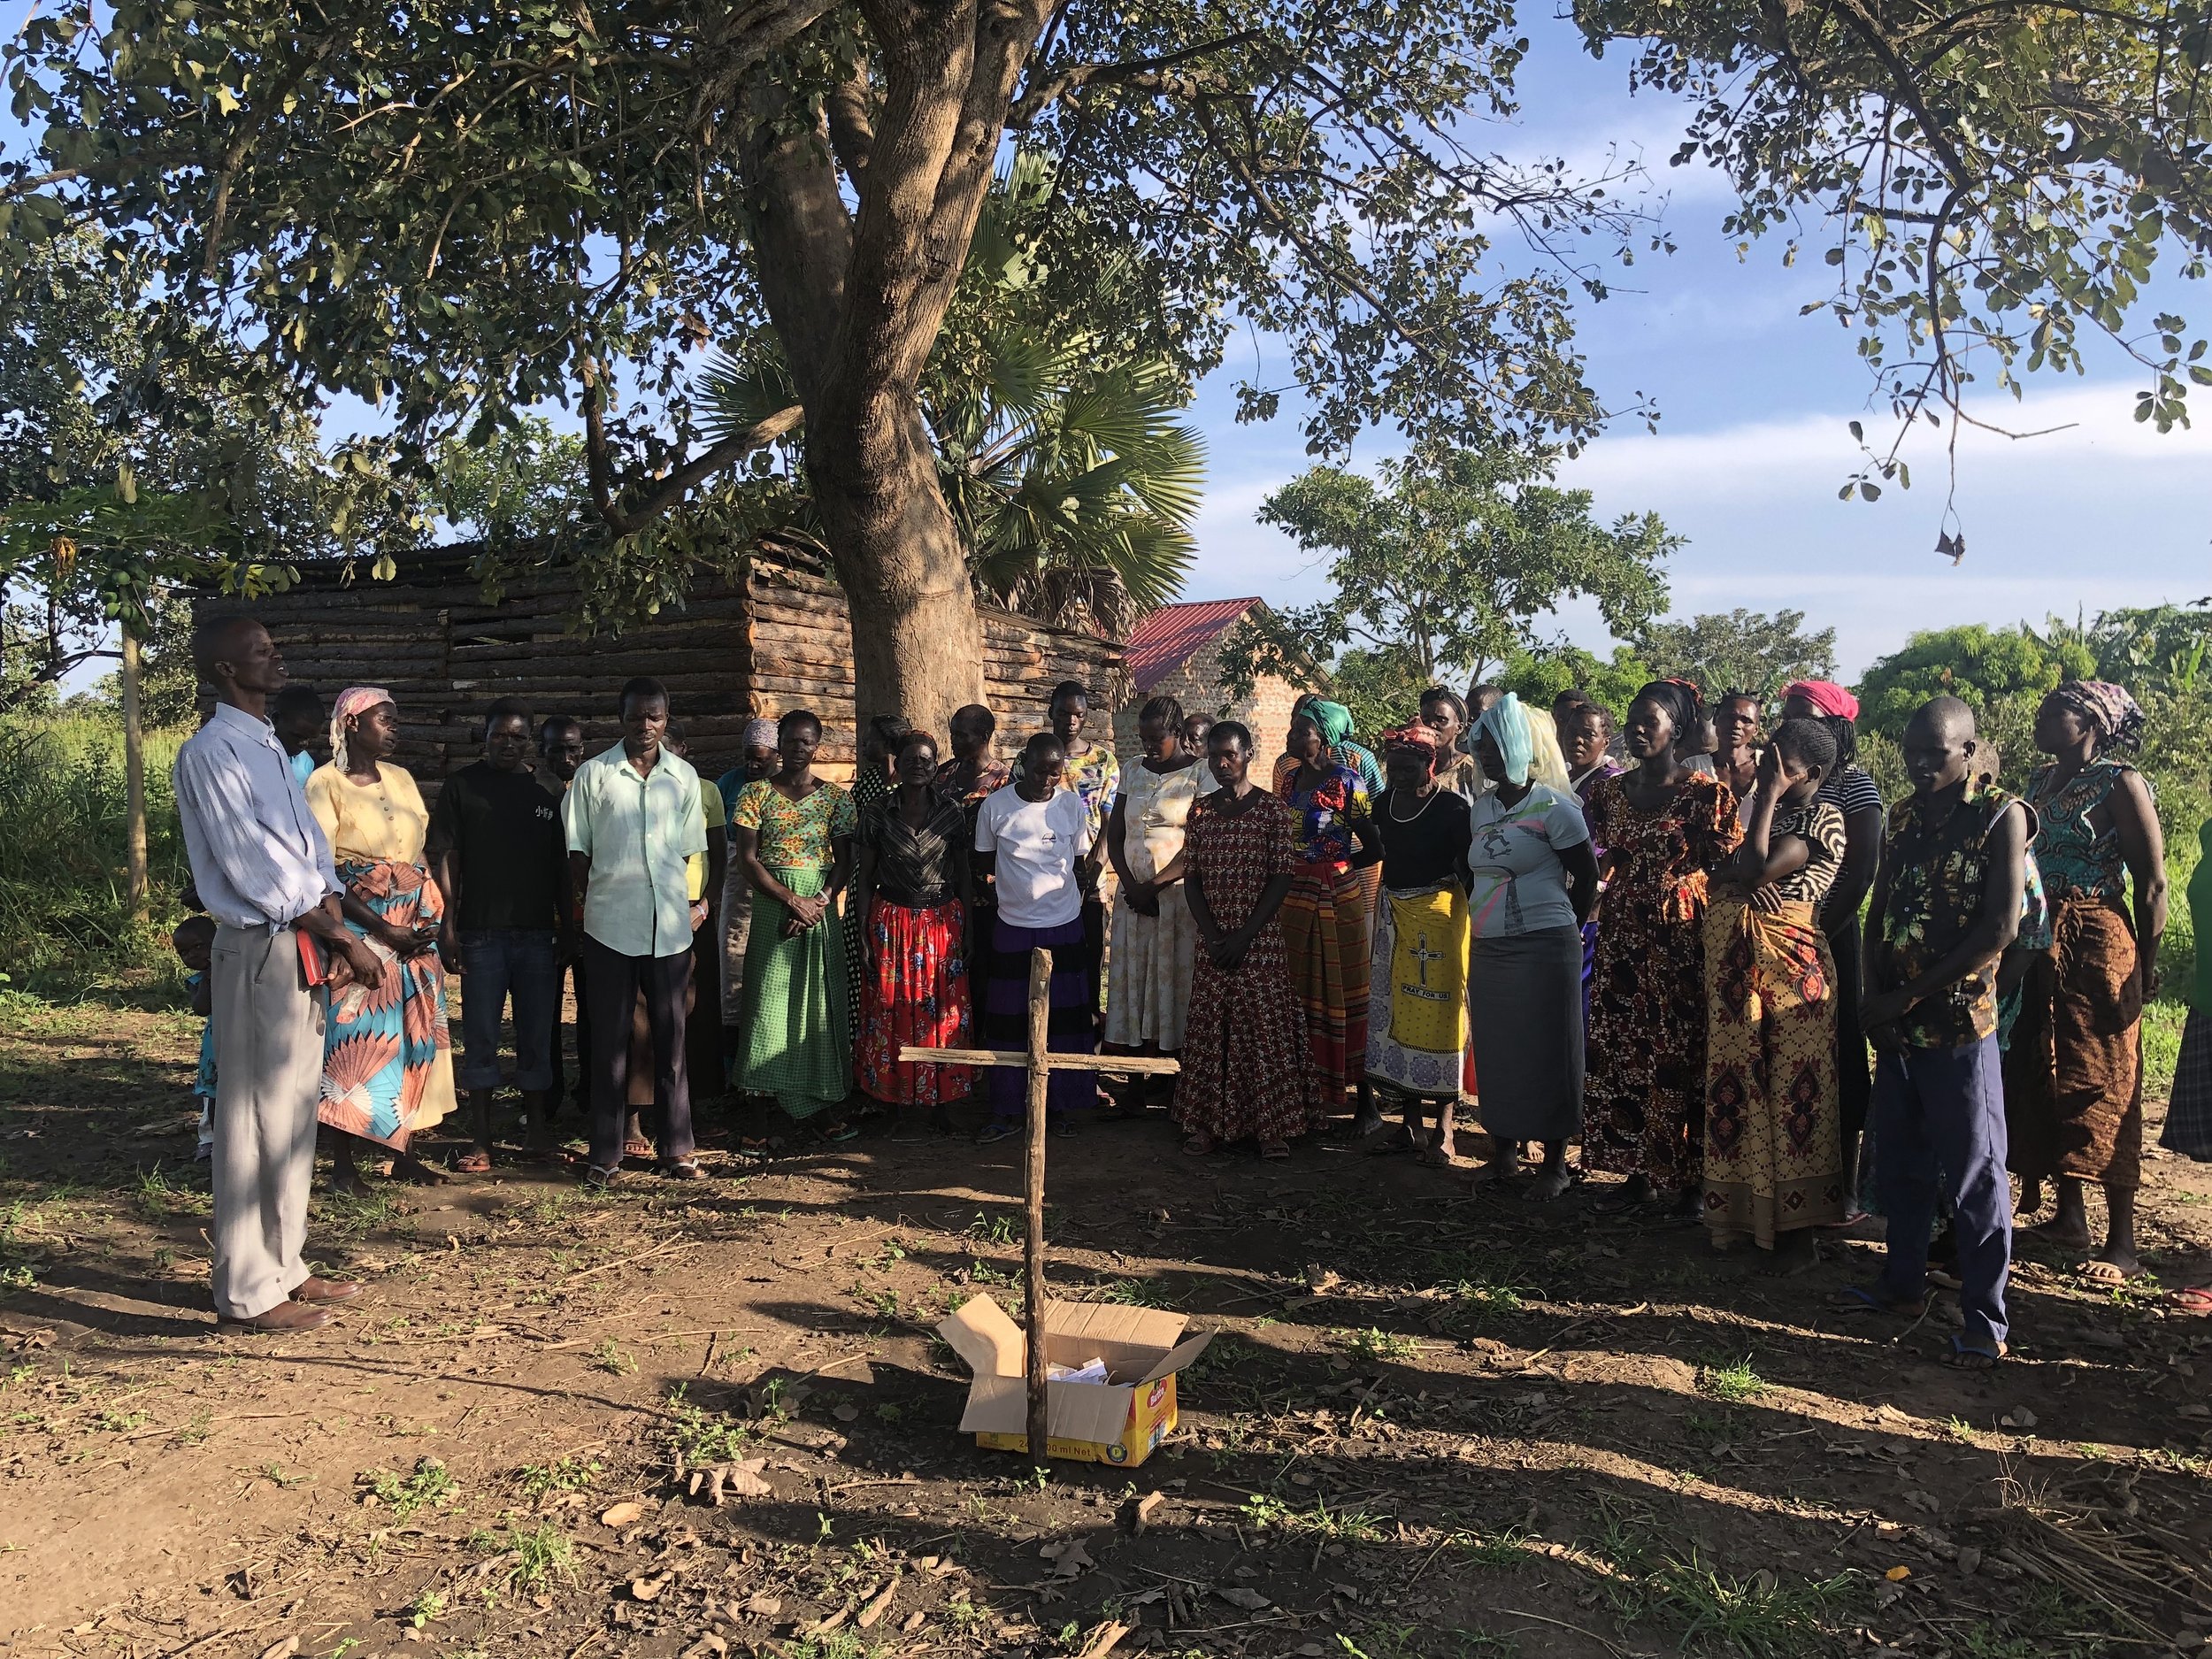
[[[686,860],[706,852],[699,774],[661,748],[668,690],[657,679],[622,688],[622,741],[584,761],[562,796],[568,865],[584,896],[584,987],[591,1006],[591,1166],[604,1186],[622,1168],[630,1088],[630,1015],[639,993],[653,1024],[653,1093],[664,1104],[653,1133],[661,1175],[697,1181],[690,1075],[684,1066],[684,993],[692,929],[706,905],[690,898]]]

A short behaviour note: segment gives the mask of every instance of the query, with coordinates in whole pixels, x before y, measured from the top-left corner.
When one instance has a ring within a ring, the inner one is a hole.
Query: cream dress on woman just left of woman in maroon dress
[[[1183,852],[1190,807],[1210,781],[1203,761],[1172,772],[1137,763],[1121,774],[1121,860],[1135,880],[1152,880]],[[1172,1055],[1183,1046],[1199,927],[1186,883],[1161,887],[1157,900],[1157,916],[1139,916],[1126,891],[1115,896],[1106,1042],[1157,1042]]]

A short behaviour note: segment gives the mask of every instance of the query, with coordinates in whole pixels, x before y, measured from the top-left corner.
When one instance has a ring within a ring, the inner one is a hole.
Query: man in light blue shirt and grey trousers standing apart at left
[[[243,1329],[314,1329],[361,1285],[316,1279],[301,1259],[323,1093],[323,991],[301,933],[330,949],[336,982],[380,980],[385,964],[338,914],[330,845],[268,721],[283,686],[268,628],[204,624],[192,661],[215,714],[177,750],[175,785],[192,885],[215,918],[215,1312]]]

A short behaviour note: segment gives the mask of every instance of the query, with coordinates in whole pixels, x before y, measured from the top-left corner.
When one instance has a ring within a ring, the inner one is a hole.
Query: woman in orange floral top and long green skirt
[[[852,796],[814,776],[823,723],[794,708],[776,721],[774,776],[730,807],[730,858],[752,883],[739,1088],[774,1095],[796,1121],[830,1113],[823,1139],[849,1141],[852,1009],[836,896],[852,867]]]

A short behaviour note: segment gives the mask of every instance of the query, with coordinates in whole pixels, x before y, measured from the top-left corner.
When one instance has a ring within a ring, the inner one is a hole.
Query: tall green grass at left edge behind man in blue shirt
[[[144,920],[124,891],[124,737],[104,714],[0,721],[0,973],[66,995],[166,980],[168,927],[190,880],[168,770],[188,732],[146,741]]]

